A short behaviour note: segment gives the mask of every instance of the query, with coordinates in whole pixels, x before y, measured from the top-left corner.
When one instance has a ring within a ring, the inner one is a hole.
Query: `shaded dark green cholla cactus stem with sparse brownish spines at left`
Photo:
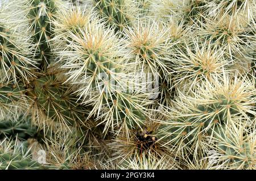
[[[88,111],[77,102],[72,89],[56,78],[58,73],[49,70],[27,85],[32,119],[40,127],[82,125]]]

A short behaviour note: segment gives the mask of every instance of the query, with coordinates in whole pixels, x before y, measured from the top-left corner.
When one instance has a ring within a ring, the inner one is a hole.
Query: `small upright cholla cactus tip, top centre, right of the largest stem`
[[[167,77],[166,74],[170,70],[167,66],[170,61],[169,49],[172,47],[168,37],[169,31],[166,27],[160,28],[154,21],[138,22],[137,26],[125,30],[127,47],[130,48],[137,65],[135,71],[141,70],[142,73]]]

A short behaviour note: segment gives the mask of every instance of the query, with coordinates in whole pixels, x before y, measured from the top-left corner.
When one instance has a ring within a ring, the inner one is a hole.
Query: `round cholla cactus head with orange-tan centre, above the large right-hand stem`
[[[231,60],[224,57],[222,49],[212,47],[207,41],[200,43],[198,39],[177,48],[172,62],[175,82],[186,82],[191,89],[197,82],[206,81],[212,75],[221,75],[224,68],[232,65]]]

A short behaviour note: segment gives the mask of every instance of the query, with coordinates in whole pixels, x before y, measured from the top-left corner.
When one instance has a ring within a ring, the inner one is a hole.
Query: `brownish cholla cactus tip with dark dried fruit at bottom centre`
[[[117,138],[109,144],[113,150],[112,159],[116,159],[121,167],[128,166],[129,158],[139,161],[138,157],[147,159],[152,157],[156,159],[156,162],[164,159],[175,167],[176,162],[174,153],[171,153],[171,147],[166,144],[165,140],[159,139],[160,124],[158,122],[164,119],[164,116],[155,111],[151,114],[146,118],[142,128],[131,129],[129,136],[119,133]]]

